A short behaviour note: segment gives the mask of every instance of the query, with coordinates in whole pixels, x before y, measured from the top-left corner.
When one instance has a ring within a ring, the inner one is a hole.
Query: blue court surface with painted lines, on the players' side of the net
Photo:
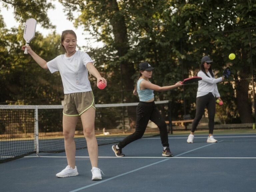
[[[159,137],[137,140],[115,157],[111,146],[99,146],[103,180],[91,180],[87,149],[77,150],[78,176],[56,178],[66,166],[65,153],[40,153],[1,163],[2,192],[254,192],[256,191],[256,134],[215,135],[218,143],[206,143],[207,135],[169,136],[174,157],[162,157]]]

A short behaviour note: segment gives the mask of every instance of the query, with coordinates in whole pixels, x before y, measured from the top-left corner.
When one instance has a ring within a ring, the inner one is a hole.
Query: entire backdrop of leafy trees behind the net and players
[[[13,6],[20,28],[8,31],[0,18],[1,103],[60,104],[63,90],[59,74],[42,70],[20,51],[24,43],[23,24],[33,17],[46,28],[51,1],[0,1]],[[104,91],[91,77],[96,103],[136,102],[132,95],[138,78],[138,63],[148,61],[156,70],[152,82],[174,84],[195,76],[200,59],[210,55],[216,76],[231,66],[232,77],[218,85],[224,106],[217,110],[223,123],[253,122],[255,77],[256,5],[251,1],[220,0],[60,0],[69,20],[83,26],[102,48],[83,47],[96,61],[95,66],[108,79]],[[34,8],[32,8],[34,7]],[[74,12],[80,12],[75,17]],[[59,31],[33,40],[35,52],[46,60],[62,53]],[[251,44],[250,44],[251,38]],[[234,52],[236,59],[228,55]],[[252,58],[252,60],[251,60]],[[231,62],[231,63],[230,63]],[[168,92],[155,92],[157,100],[171,100],[174,118],[195,113],[196,85]],[[223,109],[224,108],[224,109]]]

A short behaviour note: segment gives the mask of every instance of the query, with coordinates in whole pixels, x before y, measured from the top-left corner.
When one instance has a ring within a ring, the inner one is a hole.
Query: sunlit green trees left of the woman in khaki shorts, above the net
[[[50,72],[43,72],[29,55],[21,51],[25,43],[23,26],[26,19],[33,17],[42,26],[53,27],[46,14],[52,4],[37,0],[0,2],[7,8],[12,6],[16,20],[21,23],[20,27],[7,30],[3,17],[0,17],[0,103],[60,104],[63,90],[59,74],[52,76]],[[51,60],[61,53],[60,35],[53,33],[44,38],[36,33],[31,47],[44,59]]]

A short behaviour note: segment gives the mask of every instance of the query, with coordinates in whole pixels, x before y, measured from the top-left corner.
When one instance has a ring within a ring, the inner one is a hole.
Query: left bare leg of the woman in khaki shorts
[[[75,168],[76,144],[74,140],[76,124],[79,116],[63,115],[63,135],[68,165]]]

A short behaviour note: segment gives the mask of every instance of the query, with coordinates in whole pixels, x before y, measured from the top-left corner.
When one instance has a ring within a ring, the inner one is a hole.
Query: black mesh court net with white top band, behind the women
[[[168,120],[169,101],[156,101],[163,117]],[[115,143],[134,132],[138,103],[97,104],[95,133],[98,145]],[[62,152],[62,105],[0,105],[0,163],[32,153]],[[159,134],[149,121],[144,136]],[[77,149],[86,148],[82,122],[75,132]]]

